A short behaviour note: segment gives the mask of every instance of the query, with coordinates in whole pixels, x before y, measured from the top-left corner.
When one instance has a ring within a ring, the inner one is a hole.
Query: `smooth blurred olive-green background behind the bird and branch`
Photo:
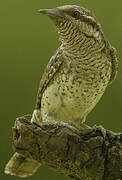
[[[40,8],[77,4],[92,10],[119,57],[119,73],[87,118],[90,126],[103,125],[122,132],[122,1],[111,0],[4,0],[0,1],[0,179],[19,180],[4,174],[12,156],[12,126],[16,117],[32,114],[46,64],[60,45],[52,22],[37,15]],[[67,180],[41,167],[28,180]]]

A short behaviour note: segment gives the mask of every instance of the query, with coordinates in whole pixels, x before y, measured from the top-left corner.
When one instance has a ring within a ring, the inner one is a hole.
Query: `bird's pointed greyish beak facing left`
[[[45,14],[49,17],[63,17],[63,13],[59,9],[40,9],[38,10],[38,13]]]

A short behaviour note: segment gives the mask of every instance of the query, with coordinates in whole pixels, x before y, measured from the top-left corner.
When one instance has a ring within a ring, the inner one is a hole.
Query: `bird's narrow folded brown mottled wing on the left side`
[[[43,94],[44,90],[46,89],[48,83],[53,78],[54,74],[58,71],[58,69],[60,68],[60,66],[63,62],[63,58],[61,57],[61,55],[62,55],[62,49],[59,48],[56,51],[56,53],[54,54],[54,56],[52,56],[49,63],[47,64],[47,67],[42,76],[42,79],[41,79],[41,82],[39,85],[39,89],[38,89],[38,93],[37,93],[36,109],[41,108],[42,94]]]

